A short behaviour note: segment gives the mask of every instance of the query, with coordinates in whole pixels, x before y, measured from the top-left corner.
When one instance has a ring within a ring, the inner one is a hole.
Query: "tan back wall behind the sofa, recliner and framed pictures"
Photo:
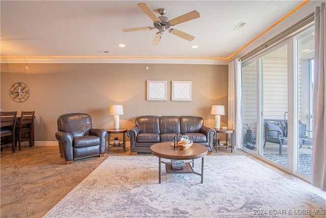
[[[36,141],[56,141],[57,118],[64,113],[88,113],[93,127],[113,128],[109,108],[114,104],[124,108],[120,128],[132,127],[141,115],[196,115],[213,127],[211,105],[225,105],[221,126],[227,126],[228,65],[1,64],[0,76],[1,109],[35,110]],[[146,101],[147,80],[167,80],[168,101]],[[171,81],[192,81],[192,101],[171,101]],[[30,87],[26,102],[11,99],[16,82]]]

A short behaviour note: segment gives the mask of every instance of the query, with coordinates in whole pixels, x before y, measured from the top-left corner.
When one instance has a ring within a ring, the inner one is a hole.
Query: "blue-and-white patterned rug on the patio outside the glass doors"
[[[286,154],[264,154],[264,157],[285,167],[287,166]],[[311,163],[311,154],[300,154],[298,158],[297,170],[301,173],[311,176]]]

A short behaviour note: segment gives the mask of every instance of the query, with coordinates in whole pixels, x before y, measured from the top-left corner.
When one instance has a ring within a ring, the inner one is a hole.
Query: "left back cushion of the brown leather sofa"
[[[159,116],[139,116],[135,119],[135,124],[141,133],[159,134]]]

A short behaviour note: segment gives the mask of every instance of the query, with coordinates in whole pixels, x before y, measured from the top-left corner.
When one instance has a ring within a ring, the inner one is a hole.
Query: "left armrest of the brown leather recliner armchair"
[[[56,132],[56,139],[59,142],[59,150],[61,156],[65,157],[67,161],[73,160],[73,137],[70,133],[58,131]]]

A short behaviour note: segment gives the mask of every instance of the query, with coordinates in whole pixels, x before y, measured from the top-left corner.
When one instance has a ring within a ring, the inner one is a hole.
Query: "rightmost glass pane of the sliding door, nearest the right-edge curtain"
[[[296,171],[311,176],[312,92],[314,35],[312,30],[297,40],[297,155]]]

